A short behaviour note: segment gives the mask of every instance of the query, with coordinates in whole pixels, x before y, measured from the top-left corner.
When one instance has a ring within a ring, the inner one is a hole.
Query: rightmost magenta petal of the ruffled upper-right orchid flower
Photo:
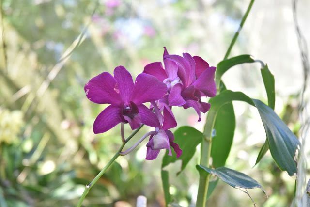
[[[200,77],[192,84],[206,96],[214,97],[217,94],[217,87],[214,81],[216,67],[209,67],[202,72]]]

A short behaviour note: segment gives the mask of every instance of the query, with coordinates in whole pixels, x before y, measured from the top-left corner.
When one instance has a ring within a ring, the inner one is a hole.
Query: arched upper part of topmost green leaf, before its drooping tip
[[[233,67],[234,65],[243,63],[254,63],[254,59],[251,55],[239,55],[219,62],[217,64],[217,70],[215,73],[215,82],[219,84],[222,76],[229,68]]]

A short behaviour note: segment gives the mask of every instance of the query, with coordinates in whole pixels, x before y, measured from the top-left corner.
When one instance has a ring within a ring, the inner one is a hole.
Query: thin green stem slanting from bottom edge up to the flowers
[[[120,146],[120,148],[118,149],[118,151],[115,153],[115,155],[113,156],[112,159],[110,159],[110,161],[108,162],[108,164],[98,173],[98,175],[95,176],[95,178],[93,178],[92,182],[90,182],[89,184],[87,184],[85,186],[84,192],[82,194],[82,196],[80,197],[80,199],[78,200],[78,205],[77,207],[81,207],[82,203],[86,197],[86,195],[88,194],[88,192],[91,190],[91,188],[93,188],[93,185],[100,179],[100,177],[109,169],[109,167],[113,164],[113,162],[120,156],[120,152],[122,152],[124,146],[126,143],[128,143],[128,141],[133,138],[133,136],[135,136],[138,131],[143,127],[144,125],[141,125],[139,128],[137,128],[134,132],[132,132],[132,134],[125,140],[125,142]]]

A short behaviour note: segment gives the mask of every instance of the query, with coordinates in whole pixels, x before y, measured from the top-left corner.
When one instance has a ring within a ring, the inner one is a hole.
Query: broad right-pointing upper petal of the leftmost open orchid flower
[[[167,86],[154,76],[141,73],[137,76],[131,100],[140,105],[145,102],[156,101],[167,93]]]

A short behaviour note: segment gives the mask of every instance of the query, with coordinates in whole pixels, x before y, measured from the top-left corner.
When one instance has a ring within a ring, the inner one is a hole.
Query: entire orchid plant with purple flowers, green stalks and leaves
[[[250,55],[227,59],[253,2],[254,0],[251,0],[241,21],[240,29],[233,37],[224,60],[218,63],[217,67],[210,66],[202,57],[191,56],[188,53],[183,53],[182,56],[169,54],[164,47],[163,64],[155,62],[146,65],[135,81],[124,66],[118,66],[114,69],[114,76],[103,72],[86,83],[84,90],[90,101],[109,104],[95,119],[93,132],[104,133],[121,124],[122,145],[102,171],[86,185],[78,206],[81,206],[89,190],[119,156],[132,152],[147,138],[149,141],[146,144],[145,159],[156,159],[160,150],[167,150],[163,157],[161,174],[167,206],[173,199],[169,193],[169,173],[164,168],[176,160],[181,160],[181,171],[184,170],[199,144],[201,159],[200,164],[197,165],[200,175],[197,207],[206,206],[206,200],[214,191],[218,179],[247,194],[247,189],[263,190],[263,187],[253,178],[225,167],[235,129],[232,101],[247,102],[256,107],[261,116],[266,142],[256,163],[270,150],[281,170],[287,171],[291,176],[297,175],[296,150],[300,143],[274,112],[274,77],[267,64],[255,60]],[[242,92],[226,89],[221,80],[222,75],[234,65],[257,62],[261,64],[268,105]],[[208,97],[209,102],[203,102],[202,97]],[[178,123],[173,115],[174,107],[183,107],[183,109],[192,107],[198,114],[198,121],[201,121],[201,112],[208,112],[204,132],[193,127],[179,127],[172,133],[171,129],[177,127]],[[134,130],[127,139],[124,137],[124,124],[129,124]],[[154,127],[154,130],[147,132],[137,143],[123,151],[125,144],[144,125]]]

